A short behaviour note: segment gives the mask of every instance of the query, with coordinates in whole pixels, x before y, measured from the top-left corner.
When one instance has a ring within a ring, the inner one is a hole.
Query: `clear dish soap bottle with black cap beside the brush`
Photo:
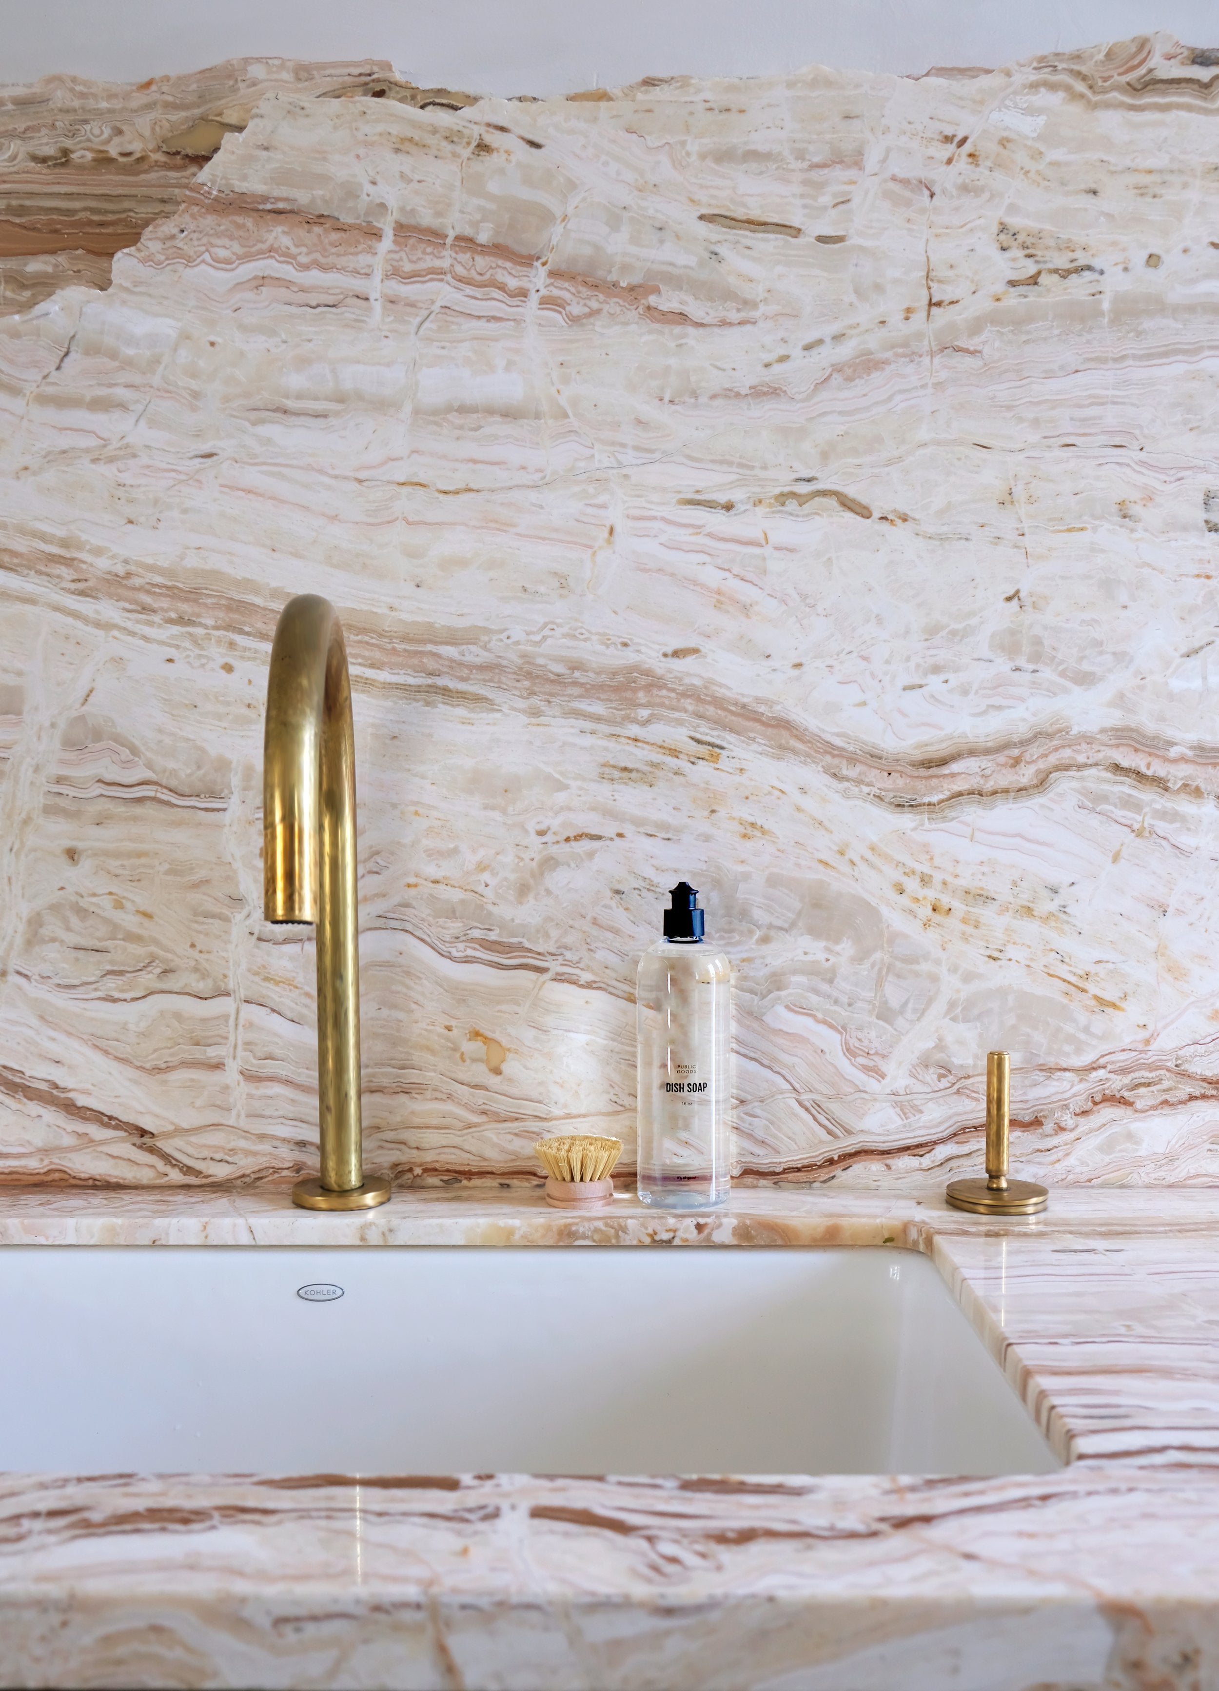
[[[732,964],[703,944],[698,893],[670,893],[664,939],[639,959],[639,1197],[715,1209],[729,1196]]]

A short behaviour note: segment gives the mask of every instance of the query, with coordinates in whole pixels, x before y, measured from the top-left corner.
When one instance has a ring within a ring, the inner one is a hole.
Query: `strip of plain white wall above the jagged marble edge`
[[[384,57],[419,83],[563,93],[818,61],[916,73],[1153,29],[1219,46],[1216,0],[0,0],[0,81],[137,81],[245,54]]]

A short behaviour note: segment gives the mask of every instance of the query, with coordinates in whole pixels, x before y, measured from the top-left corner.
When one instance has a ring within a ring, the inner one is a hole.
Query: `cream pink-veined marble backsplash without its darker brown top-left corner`
[[[0,318],[0,1180],[314,1165],[259,862],[303,590],[374,1168],[632,1146],[685,876],[746,1177],[976,1167],[1003,1045],[1021,1172],[1217,1179],[1219,52],[375,71],[233,73],[110,286]]]

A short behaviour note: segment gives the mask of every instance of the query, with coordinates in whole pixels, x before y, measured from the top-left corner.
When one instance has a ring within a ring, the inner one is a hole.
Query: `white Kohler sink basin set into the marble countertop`
[[[10,1246],[0,1348],[5,1469],[1058,1466],[903,1250]]]

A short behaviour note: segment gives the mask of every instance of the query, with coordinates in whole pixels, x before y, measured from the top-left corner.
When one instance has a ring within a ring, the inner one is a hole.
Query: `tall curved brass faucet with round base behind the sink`
[[[289,599],[276,626],[262,746],[262,905],[267,922],[318,927],[318,1138],[321,1179],[304,1209],[372,1209],[389,1180],[365,1179],[360,1146],[360,937],[355,905],[355,741],[338,612]]]

